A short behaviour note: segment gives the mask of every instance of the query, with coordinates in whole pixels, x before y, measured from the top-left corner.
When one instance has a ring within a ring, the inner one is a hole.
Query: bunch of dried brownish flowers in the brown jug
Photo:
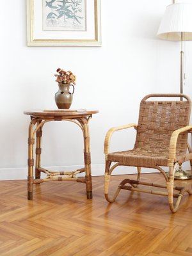
[[[59,74],[55,74],[57,77],[56,82],[60,84],[76,84],[76,76],[71,71],[65,71],[61,68],[56,70]]]

